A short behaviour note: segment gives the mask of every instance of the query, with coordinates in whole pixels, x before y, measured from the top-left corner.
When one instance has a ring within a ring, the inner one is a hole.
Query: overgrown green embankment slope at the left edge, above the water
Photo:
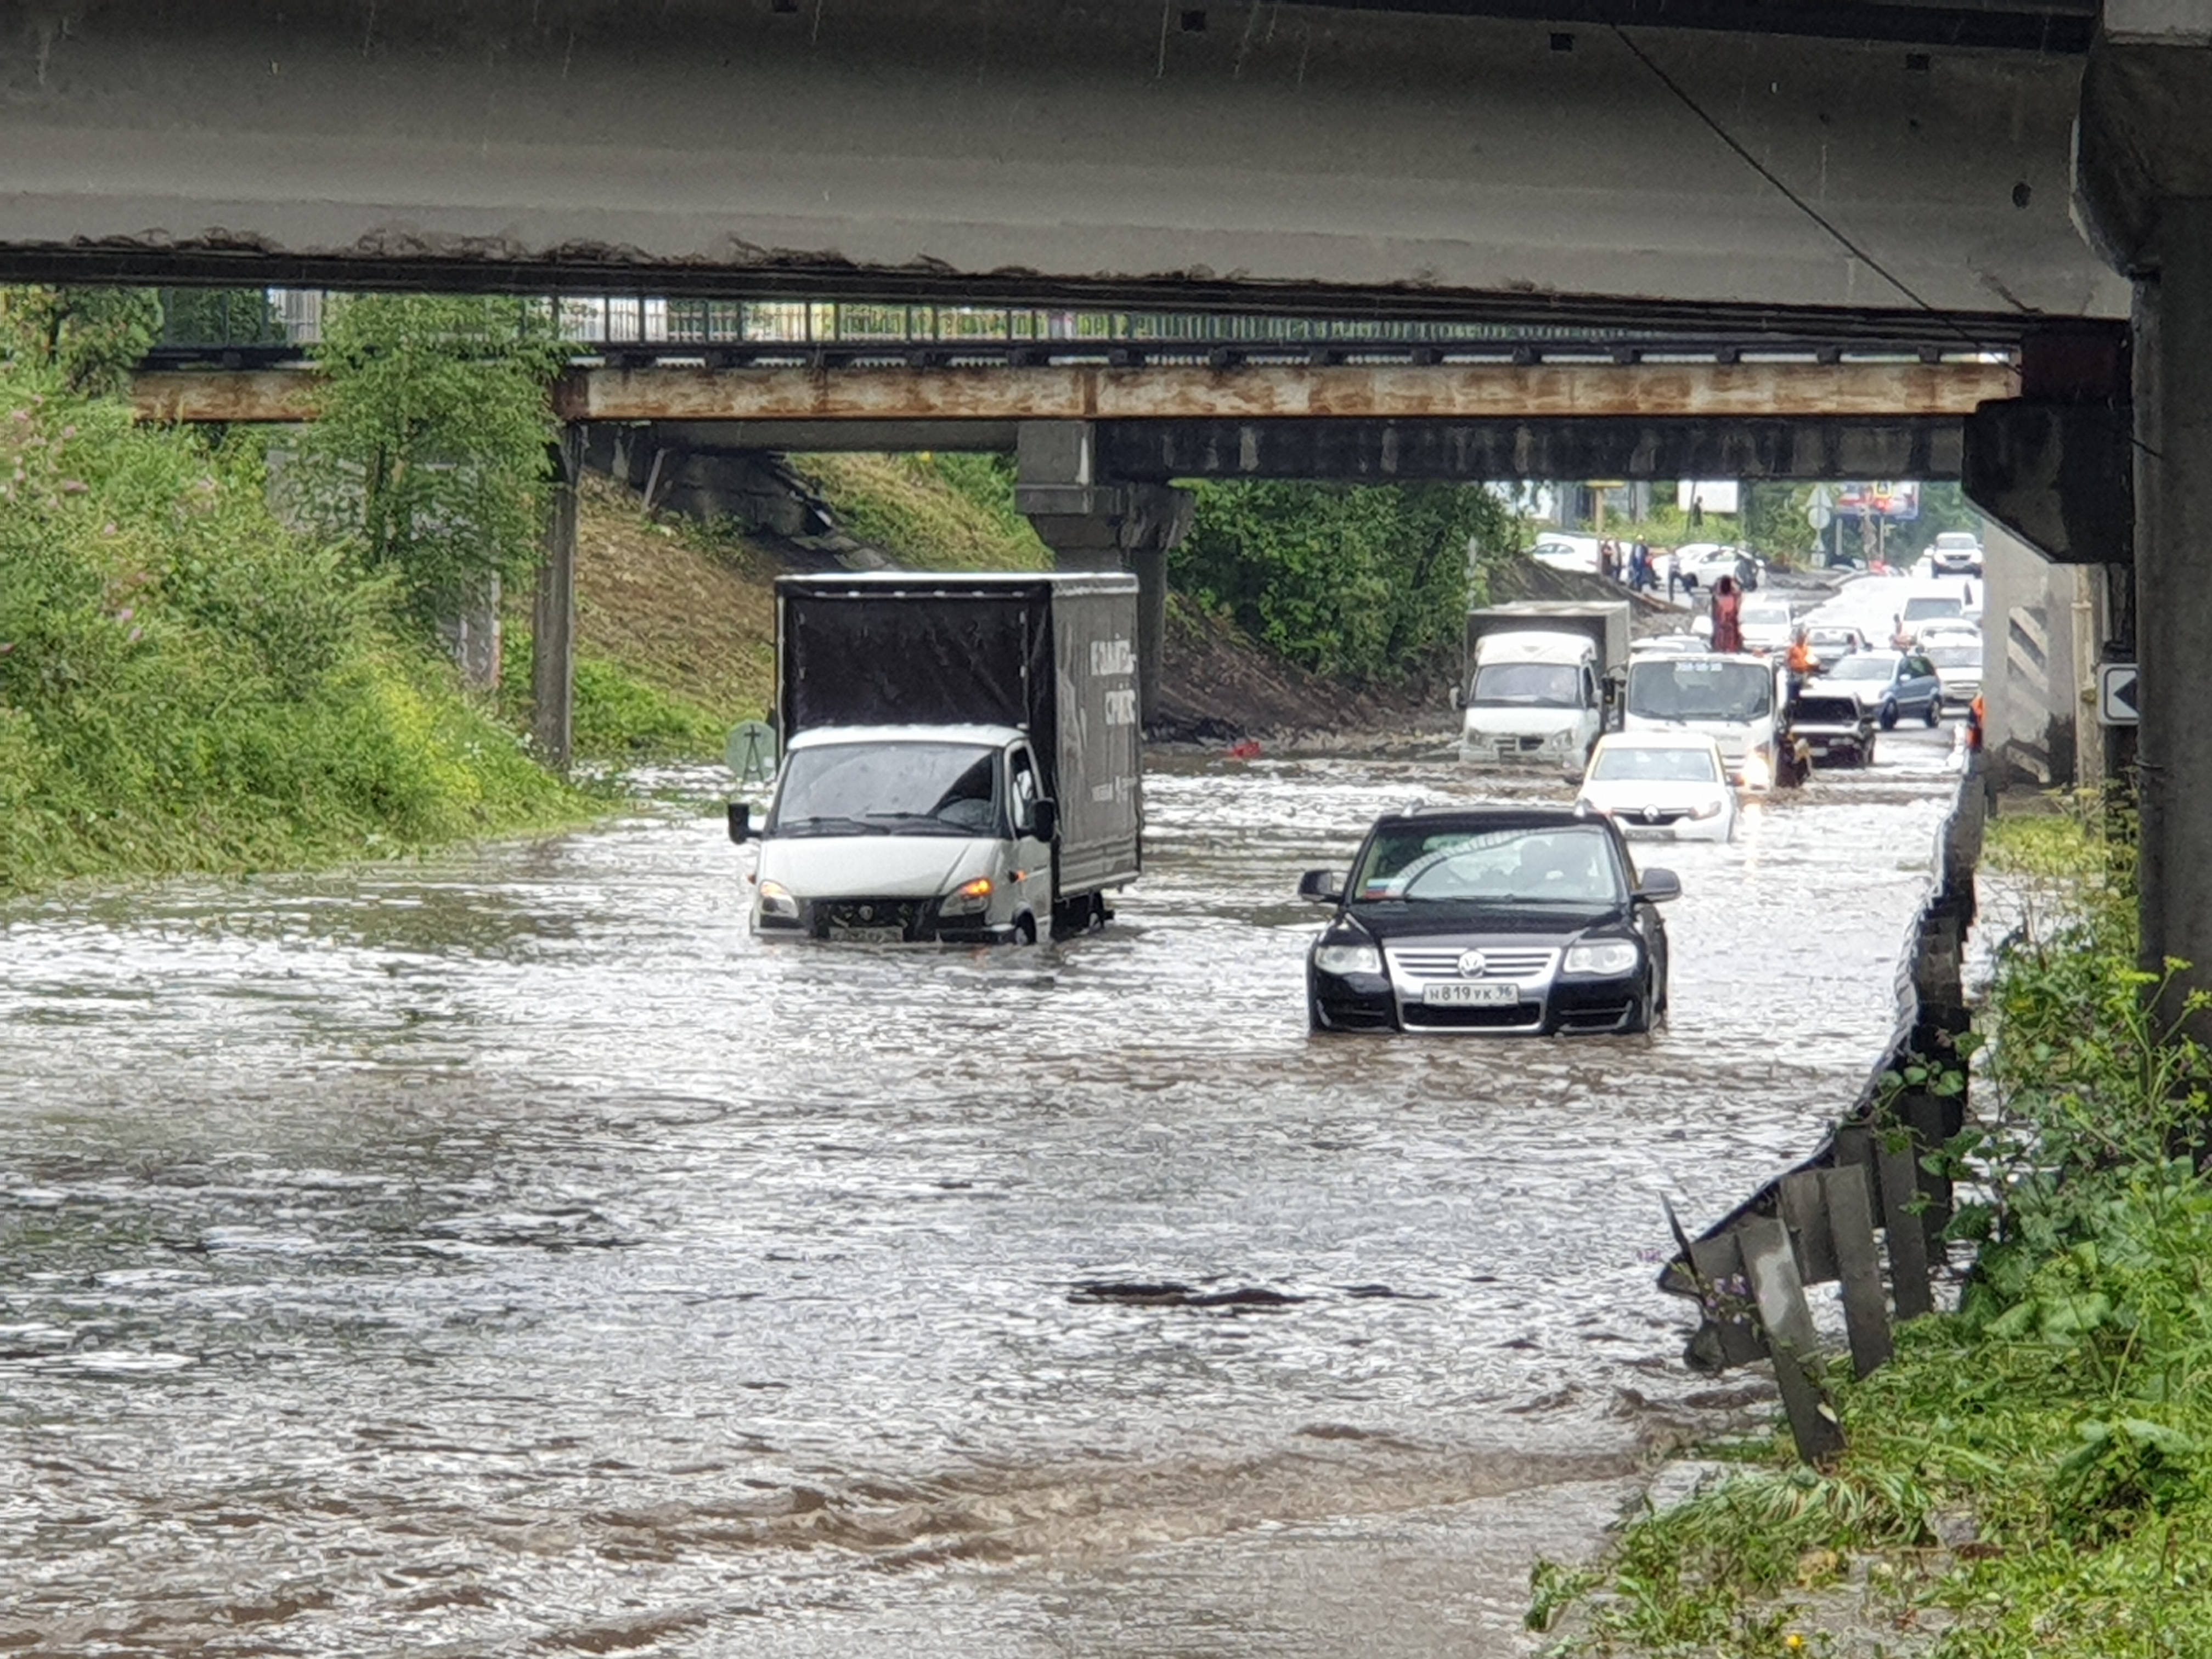
[[[0,896],[588,816],[389,617],[250,445],[0,361]]]

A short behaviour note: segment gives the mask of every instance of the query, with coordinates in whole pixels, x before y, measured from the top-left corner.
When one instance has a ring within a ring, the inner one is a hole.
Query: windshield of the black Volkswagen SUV
[[[1409,823],[1380,830],[1352,900],[1460,905],[1619,905],[1628,898],[1613,838],[1599,825],[1482,830]]]

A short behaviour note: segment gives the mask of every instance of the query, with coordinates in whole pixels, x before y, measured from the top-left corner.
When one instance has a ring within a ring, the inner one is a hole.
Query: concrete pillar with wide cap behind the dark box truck
[[[1095,440],[1088,420],[1024,420],[1013,500],[1062,571],[1137,577],[1137,701],[1150,721],[1168,644],[1168,549],[1190,533],[1192,495],[1170,484],[1102,482]]]

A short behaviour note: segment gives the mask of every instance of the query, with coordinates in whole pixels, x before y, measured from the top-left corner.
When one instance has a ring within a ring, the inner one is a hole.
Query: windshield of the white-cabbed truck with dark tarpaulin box
[[[998,750],[975,743],[825,743],[783,761],[772,836],[998,830]]]

